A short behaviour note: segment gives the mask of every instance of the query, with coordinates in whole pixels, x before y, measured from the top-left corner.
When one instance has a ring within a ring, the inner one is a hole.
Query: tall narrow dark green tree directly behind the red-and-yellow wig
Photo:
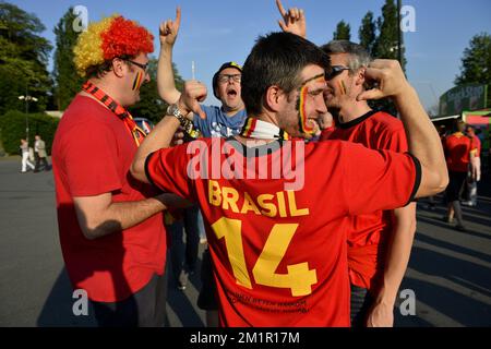
[[[73,47],[80,35],[80,33],[73,31],[75,19],[73,8],[70,8],[53,31],[56,35],[55,68],[52,73],[56,82],[53,97],[58,110],[67,109],[83,83],[73,63]]]

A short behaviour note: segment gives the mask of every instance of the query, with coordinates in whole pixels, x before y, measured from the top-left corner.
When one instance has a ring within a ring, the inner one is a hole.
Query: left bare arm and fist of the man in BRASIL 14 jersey
[[[206,86],[197,81],[184,83],[184,92],[178,100],[178,107],[182,115],[194,112],[201,118],[205,117],[200,107],[200,101],[206,98]],[[173,135],[179,128],[179,120],[175,117],[165,117],[146,136],[145,142],[139,147],[131,166],[131,174],[137,180],[148,183],[145,173],[145,161],[149,154],[170,146]]]

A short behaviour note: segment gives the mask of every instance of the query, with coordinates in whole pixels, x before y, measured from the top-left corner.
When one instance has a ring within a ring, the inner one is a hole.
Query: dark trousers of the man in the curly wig
[[[99,327],[164,327],[167,322],[167,274],[151,281],[130,298],[115,303],[94,302]]]

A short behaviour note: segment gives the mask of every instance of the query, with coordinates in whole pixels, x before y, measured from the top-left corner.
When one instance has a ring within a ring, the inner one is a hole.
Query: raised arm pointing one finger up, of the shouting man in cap
[[[157,86],[160,98],[167,104],[175,104],[181,93],[176,88],[172,70],[172,48],[181,24],[181,9],[176,10],[176,20],[160,24],[160,56],[158,58]]]

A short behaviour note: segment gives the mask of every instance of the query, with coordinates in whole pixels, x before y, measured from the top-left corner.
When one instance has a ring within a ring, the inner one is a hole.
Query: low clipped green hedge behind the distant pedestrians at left
[[[12,110],[0,116],[1,141],[7,153],[20,154],[19,146],[21,139],[25,139],[25,117],[24,112]],[[29,123],[29,146],[34,147],[34,136],[39,134],[46,143],[48,155],[51,154],[52,140],[57,131],[59,119],[46,113],[28,113]]]

